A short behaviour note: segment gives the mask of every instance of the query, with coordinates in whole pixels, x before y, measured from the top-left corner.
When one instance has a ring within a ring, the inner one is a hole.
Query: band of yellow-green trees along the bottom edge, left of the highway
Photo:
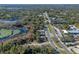
[[[17,43],[13,43],[13,41],[6,42],[0,45],[0,53],[5,54],[52,54],[58,53],[55,49],[53,49],[50,45],[43,46],[30,46],[30,45],[18,45]]]

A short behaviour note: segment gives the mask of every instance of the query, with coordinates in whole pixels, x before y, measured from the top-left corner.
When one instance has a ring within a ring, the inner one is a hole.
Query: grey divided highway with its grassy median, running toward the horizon
[[[55,26],[51,25],[50,18],[47,12],[45,12],[43,16],[44,16],[45,21],[48,22],[45,25],[47,26],[46,35],[48,36],[48,41],[50,42],[50,45],[54,47],[60,53],[63,53],[62,52],[63,50],[64,53],[72,54],[73,52],[67,48],[67,46],[61,41],[61,38],[59,37],[59,35],[63,37],[60,30],[56,28]]]

